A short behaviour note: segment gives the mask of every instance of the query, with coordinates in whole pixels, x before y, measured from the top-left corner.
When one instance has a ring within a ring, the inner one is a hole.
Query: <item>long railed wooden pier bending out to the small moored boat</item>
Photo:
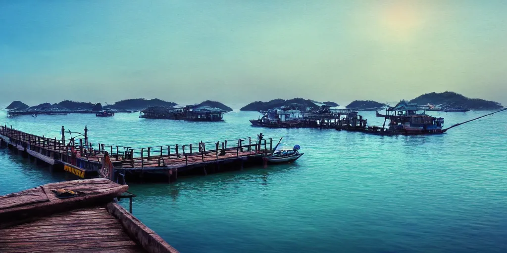
[[[69,133],[62,126],[62,139],[57,140],[4,125],[0,126],[0,142],[34,162],[48,164],[52,171],[92,178],[106,174],[107,168],[114,172],[111,179],[118,182],[125,176],[148,179],[153,173],[164,174],[167,181],[173,181],[178,173],[207,175],[234,168],[242,170],[244,166],[262,165],[263,156],[273,148],[273,139],[264,138],[262,134],[257,138],[131,148],[92,144],[87,131],[85,126],[83,135]],[[66,140],[65,134],[74,134],[74,137]]]

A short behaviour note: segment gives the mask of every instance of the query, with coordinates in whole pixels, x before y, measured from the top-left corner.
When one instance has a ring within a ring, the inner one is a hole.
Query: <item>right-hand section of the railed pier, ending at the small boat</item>
[[[260,135],[262,136],[262,134]],[[263,156],[273,148],[273,139],[243,138],[218,142],[200,142],[188,145],[127,148],[121,157],[120,174],[165,173],[168,180],[177,179],[178,173],[217,173],[231,168],[263,164]],[[120,163],[119,163],[120,164]]]

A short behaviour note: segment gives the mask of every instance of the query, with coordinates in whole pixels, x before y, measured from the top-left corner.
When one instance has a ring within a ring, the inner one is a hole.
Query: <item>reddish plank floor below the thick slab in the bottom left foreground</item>
[[[75,209],[0,230],[1,252],[146,252],[104,207]]]

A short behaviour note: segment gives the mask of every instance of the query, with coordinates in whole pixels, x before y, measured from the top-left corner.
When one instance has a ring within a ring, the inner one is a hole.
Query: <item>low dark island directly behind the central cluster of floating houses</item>
[[[308,110],[316,110],[320,108],[322,105],[328,105],[328,106],[339,106],[337,103],[334,102],[324,102],[320,103],[314,100],[310,99],[303,99],[303,98],[293,98],[289,100],[284,99],[273,99],[268,102],[263,101],[256,101],[247,104],[246,106],[242,107],[241,111],[267,111],[269,109],[274,108],[281,108],[281,107],[293,107],[294,109],[300,110],[300,111],[308,111]]]

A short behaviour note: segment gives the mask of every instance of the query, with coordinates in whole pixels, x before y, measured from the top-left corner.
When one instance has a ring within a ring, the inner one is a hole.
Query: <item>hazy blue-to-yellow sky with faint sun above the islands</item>
[[[0,103],[507,104],[505,45],[507,1],[0,1]]]

